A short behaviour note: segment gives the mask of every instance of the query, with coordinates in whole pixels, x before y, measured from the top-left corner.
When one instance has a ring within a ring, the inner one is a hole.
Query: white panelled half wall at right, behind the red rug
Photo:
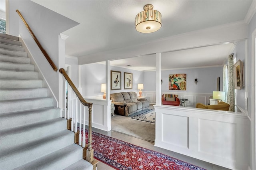
[[[154,107],[155,146],[230,169],[248,169],[250,121],[246,114],[167,105]]]

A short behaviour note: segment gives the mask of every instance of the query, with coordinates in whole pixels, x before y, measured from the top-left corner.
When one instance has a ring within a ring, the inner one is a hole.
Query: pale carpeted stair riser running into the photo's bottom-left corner
[[[72,142],[74,143],[74,140],[70,140],[72,139],[72,136],[74,136],[74,134],[72,134],[71,132],[66,135],[58,136],[57,138],[53,138],[51,140],[42,140],[41,143],[32,145],[30,147],[22,148],[17,152],[11,152],[8,155],[2,155],[0,157],[1,169],[13,169],[30,161],[36,160],[41,156],[45,156],[61,148],[64,148],[72,144]],[[8,159],[8,157],[10,156],[12,160]]]

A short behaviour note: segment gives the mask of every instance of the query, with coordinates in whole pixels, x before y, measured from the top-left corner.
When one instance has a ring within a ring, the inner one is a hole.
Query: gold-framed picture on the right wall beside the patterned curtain
[[[244,85],[244,67],[243,62],[238,60],[234,64],[234,87],[235,89],[242,89]]]

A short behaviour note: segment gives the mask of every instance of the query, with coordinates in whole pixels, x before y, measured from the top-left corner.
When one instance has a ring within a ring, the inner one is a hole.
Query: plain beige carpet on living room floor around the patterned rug
[[[150,107],[150,109],[153,108],[153,106]],[[111,116],[112,130],[154,143],[155,124],[131,119],[131,117],[150,111],[150,109],[140,111],[136,114],[130,115],[129,117],[120,115]]]

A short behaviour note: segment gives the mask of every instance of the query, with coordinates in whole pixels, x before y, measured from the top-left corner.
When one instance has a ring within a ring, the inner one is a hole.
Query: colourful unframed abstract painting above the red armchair
[[[186,74],[169,74],[169,90],[186,90]]]

